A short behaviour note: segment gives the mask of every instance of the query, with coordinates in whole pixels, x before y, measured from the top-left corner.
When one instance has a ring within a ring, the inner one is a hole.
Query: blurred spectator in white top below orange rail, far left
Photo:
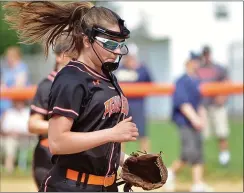
[[[5,154],[4,168],[8,173],[14,171],[17,163],[20,169],[27,168],[28,156],[28,128],[29,108],[24,101],[13,101],[13,107],[5,111],[2,117],[1,134],[2,146]]]

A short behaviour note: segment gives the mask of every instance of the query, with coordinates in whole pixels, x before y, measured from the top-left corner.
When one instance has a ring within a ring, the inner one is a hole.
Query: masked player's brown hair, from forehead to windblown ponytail
[[[5,21],[18,32],[22,43],[44,43],[46,56],[49,47],[54,49],[59,36],[63,34],[70,37],[69,52],[80,55],[88,28],[94,25],[105,28],[118,25],[118,19],[111,10],[92,7],[94,5],[89,2],[9,2],[4,6],[7,11]]]

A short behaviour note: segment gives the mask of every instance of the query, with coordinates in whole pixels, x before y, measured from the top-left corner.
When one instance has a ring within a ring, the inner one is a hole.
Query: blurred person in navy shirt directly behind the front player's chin
[[[124,56],[121,67],[115,72],[119,82],[139,83],[151,82],[147,68],[138,59],[138,48],[135,44],[128,45],[129,54]],[[128,98],[129,114],[139,129],[139,143],[142,151],[150,151],[150,143],[146,133],[145,99],[144,97]],[[124,146],[123,146],[124,148]]]

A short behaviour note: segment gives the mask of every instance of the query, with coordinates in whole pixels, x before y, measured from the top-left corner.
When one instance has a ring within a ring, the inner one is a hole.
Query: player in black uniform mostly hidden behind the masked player
[[[68,40],[60,40],[55,47],[56,65],[46,78],[38,85],[37,92],[31,104],[31,115],[29,119],[29,132],[38,134],[39,141],[33,156],[33,176],[38,189],[43,179],[51,169],[51,153],[48,149],[48,98],[52,82],[59,70],[71,59],[72,55],[65,53],[68,48]],[[73,54],[74,55],[74,54]]]

